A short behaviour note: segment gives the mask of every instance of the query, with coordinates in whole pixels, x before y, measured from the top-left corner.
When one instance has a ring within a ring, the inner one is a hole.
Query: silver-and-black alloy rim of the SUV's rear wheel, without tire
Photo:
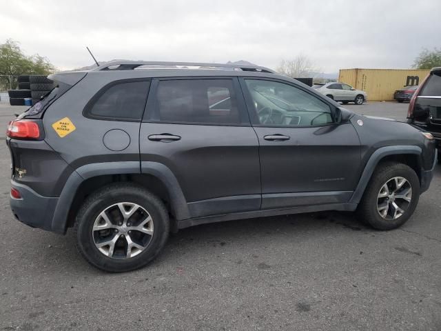
[[[153,237],[153,219],[141,205],[115,203],[99,213],[92,237],[96,248],[112,259],[130,259],[147,248]]]

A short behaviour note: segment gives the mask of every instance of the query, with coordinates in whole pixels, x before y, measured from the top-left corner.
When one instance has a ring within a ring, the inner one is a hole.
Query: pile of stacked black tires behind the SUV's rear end
[[[23,74],[17,80],[19,89],[8,90],[11,106],[24,106],[27,98],[32,98],[32,105],[34,105],[54,88],[54,82],[43,75]]]

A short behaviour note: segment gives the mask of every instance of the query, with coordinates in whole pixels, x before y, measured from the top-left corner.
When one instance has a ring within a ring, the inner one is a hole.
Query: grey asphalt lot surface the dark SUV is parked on
[[[0,105],[4,139],[20,108]],[[441,330],[441,167],[399,230],[340,212],[201,225],[173,235],[147,268],[107,274],[71,232],[12,218],[5,143],[0,155],[0,330]]]

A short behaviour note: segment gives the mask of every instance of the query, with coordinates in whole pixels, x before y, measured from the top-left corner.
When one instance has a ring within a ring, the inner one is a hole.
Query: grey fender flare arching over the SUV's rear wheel
[[[141,171],[142,170],[142,171]],[[86,179],[101,176],[103,174],[152,174],[163,182],[170,196],[170,205],[176,215],[176,219],[188,219],[189,210],[187,201],[172,170],[158,162],[124,161],[103,162],[83,165],[70,174],[63,190],[61,191],[57,207],[52,218],[52,229],[56,232],[65,233],[67,229],[68,214],[76,192]]]

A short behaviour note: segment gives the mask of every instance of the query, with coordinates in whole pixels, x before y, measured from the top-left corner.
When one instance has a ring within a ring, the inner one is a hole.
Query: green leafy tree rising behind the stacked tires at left
[[[19,43],[8,39],[6,43],[0,44],[0,84],[7,88],[17,86],[17,76],[20,74],[50,74],[55,67],[50,61],[34,54],[27,57],[20,49]]]

